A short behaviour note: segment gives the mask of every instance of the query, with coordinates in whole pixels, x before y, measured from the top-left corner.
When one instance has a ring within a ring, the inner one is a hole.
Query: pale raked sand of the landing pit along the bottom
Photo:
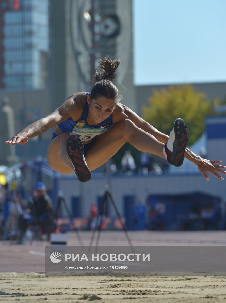
[[[1,273],[0,301],[226,302],[226,276],[73,276]]]

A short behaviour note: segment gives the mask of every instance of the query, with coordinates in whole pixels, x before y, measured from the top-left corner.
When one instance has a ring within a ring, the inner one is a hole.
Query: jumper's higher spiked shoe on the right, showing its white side
[[[176,119],[173,130],[170,132],[169,140],[163,148],[163,153],[170,164],[174,166],[183,164],[188,137],[187,124],[183,119]]]

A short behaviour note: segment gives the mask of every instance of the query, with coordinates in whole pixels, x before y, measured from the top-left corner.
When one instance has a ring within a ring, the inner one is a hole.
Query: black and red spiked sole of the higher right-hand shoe
[[[174,166],[181,166],[184,162],[184,153],[189,138],[188,126],[183,119],[176,119],[174,122],[175,140],[171,161]]]

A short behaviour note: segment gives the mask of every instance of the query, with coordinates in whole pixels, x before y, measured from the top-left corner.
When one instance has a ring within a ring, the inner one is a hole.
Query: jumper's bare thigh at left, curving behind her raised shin
[[[49,166],[61,174],[70,174],[72,169],[64,164],[60,157],[61,135],[58,135],[50,142],[47,148],[47,160]]]

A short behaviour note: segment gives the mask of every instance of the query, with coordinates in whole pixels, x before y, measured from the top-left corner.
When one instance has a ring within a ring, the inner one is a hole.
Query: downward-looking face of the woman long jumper
[[[107,119],[115,108],[115,101],[103,96],[91,100],[90,95],[88,95],[87,102],[89,104],[88,118],[97,124]]]

